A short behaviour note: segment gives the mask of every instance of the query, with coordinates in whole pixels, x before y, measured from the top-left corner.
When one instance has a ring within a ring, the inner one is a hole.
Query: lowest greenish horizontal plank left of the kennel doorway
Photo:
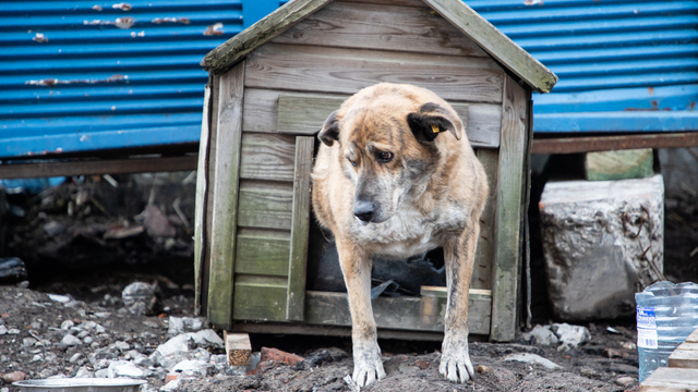
[[[236,275],[232,318],[285,321],[287,282],[286,278]]]

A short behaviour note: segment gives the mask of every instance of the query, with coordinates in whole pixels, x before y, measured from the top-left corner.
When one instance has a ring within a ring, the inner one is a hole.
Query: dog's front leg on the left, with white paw
[[[372,260],[349,242],[337,240],[337,252],[351,313],[352,379],[359,387],[364,387],[385,377],[371,307]]]

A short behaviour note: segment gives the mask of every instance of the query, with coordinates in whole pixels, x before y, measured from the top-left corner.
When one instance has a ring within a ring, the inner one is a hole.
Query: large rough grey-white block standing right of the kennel
[[[555,318],[635,315],[635,293],[662,279],[663,201],[661,175],[545,184],[539,209]]]

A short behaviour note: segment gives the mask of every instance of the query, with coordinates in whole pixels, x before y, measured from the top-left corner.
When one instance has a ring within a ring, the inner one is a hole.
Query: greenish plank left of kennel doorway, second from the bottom
[[[236,273],[287,277],[290,252],[288,232],[238,229]]]

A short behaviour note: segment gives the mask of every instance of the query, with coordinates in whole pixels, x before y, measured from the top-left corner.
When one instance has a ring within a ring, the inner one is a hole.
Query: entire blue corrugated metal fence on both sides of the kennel
[[[698,130],[698,1],[466,2],[559,76],[535,132]],[[0,157],[197,142],[198,62],[278,4],[0,1]]]

